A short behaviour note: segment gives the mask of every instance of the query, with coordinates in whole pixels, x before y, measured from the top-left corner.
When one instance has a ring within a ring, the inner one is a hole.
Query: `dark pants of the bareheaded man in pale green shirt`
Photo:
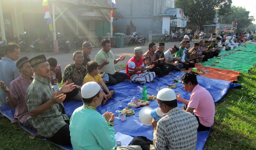
[[[108,83],[106,83],[106,85],[116,85],[117,83],[120,83],[120,82],[126,80],[127,77],[128,76],[126,73],[122,73],[119,71],[116,71],[116,73],[114,73],[113,75],[108,73],[109,81],[108,81]]]

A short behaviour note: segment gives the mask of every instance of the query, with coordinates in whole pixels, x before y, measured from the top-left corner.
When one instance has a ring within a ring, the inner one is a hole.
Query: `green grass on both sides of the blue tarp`
[[[125,65],[116,67],[122,68]],[[215,122],[204,150],[255,150],[256,147],[256,67],[241,73],[237,83],[217,104]],[[34,138],[18,124],[0,118],[0,150],[60,150]]]

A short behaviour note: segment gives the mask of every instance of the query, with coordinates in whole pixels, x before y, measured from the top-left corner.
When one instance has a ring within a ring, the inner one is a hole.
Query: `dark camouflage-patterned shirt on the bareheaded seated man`
[[[82,86],[86,73],[87,70],[84,65],[77,69],[75,63],[71,63],[64,69],[63,81],[66,82],[68,79],[71,79],[75,85]]]

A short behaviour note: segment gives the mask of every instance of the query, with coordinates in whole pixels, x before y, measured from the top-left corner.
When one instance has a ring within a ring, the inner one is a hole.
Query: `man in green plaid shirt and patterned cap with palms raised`
[[[33,126],[38,134],[56,144],[70,145],[69,117],[65,114],[62,101],[76,85],[64,83],[54,92],[50,82],[50,67],[44,54],[29,60],[35,73],[34,80],[26,92],[26,103]]]

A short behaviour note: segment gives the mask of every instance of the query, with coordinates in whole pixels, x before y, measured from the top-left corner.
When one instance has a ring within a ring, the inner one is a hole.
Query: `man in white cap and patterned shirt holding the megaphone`
[[[177,107],[176,94],[172,89],[162,89],[156,97],[166,116],[159,121],[152,119],[153,141],[138,136],[132,140],[132,144],[140,145],[143,150],[150,150],[150,144],[154,144],[156,150],[194,150],[198,128],[196,117]]]

